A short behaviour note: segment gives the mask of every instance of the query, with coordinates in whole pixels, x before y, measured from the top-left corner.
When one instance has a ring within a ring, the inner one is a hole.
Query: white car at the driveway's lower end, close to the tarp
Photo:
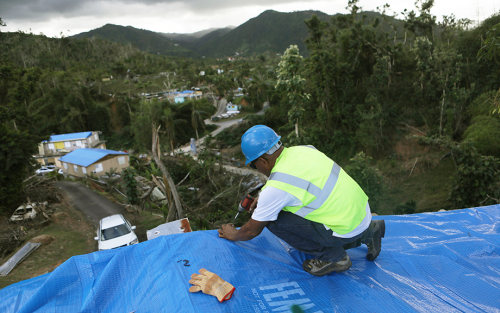
[[[135,245],[139,239],[134,230],[135,226],[130,226],[121,214],[105,217],[99,221],[97,237],[94,237],[97,248],[101,251]]]

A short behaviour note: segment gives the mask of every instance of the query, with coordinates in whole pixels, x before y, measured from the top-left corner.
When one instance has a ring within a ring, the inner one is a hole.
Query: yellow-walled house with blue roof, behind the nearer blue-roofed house
[[[99,138],[99,131],[87,131],[52,135],[49,140],[38,145],[37,160],[41,164],[56,164],[61,167],[58,159],[73,150],[80,148],[106,149],[106,142]]]

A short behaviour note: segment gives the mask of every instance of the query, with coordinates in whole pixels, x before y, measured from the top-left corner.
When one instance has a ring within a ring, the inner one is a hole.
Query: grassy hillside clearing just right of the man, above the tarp
[[[383,170],[386,172],[386,170]],[[435,166],[422,164],[420,172],[398,173],[399,178],[388,180],[389,186],[381,198],[380,215],[394,214],[394,208],[409,200],[417,202],[417,212],[436,212],[450,209],[446,200],[451,192],[455,164],[451,158],[440,161]],[[400,172],[393,170],[393,174]]]

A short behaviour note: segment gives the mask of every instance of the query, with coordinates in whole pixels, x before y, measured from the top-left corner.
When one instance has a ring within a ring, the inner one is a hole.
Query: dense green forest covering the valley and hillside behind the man
[[[283,57],[256,54],[233,62],[151,55],[95,37],[0,33],[0,210],[19,200],[15,191],[32,172],[31,155],[50,134],[100,130],[109,148],[138,151],[151,147],[151,124],[161,125],[167,151],[197,132],[201,136],[202,119],[213,113],[207,99],[176,105],[141,96],[193,87],[228,100],[241,88],[238,101],[248,103],[249,111],[265,101],[271,105],[263,117],[250,116],[221,133],[223,142],[215,145],[237,145],[249,126],[266,124],[286,145],[312,144],[345,165],[375,209],[384,193],[402,185],[384,182],[400,172],[396,143],[416,144],[405,139],[415,132],[424,135],[422,151],[448,155],[443,162],[453,164],[454,177],[442,178],[450,184],[450,197],[433,210],[497,203],[499,115],[491,112],[498,112],[500,16],[474,28],[452,15],[438,23],[432,4],[419,2],[403,21],[384,11],[360,13],[357,1],[349,1],[351,14],[330,19],[290,13],[305,19],[307,50],[291,42],[298,47],[281,51]],[[224,36],[243,30],[249,32],[245,38],[262,35],[239,27]],[[273,49],[289,42],[276,44]],[[428,168],[439,158],[422,157]],[[418,200],[404,199],[395,209],[415,212]]]

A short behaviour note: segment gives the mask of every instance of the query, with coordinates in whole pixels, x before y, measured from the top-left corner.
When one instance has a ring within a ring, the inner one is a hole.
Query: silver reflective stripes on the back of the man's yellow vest
[[[312,201],[307,206],[304,206],[300,210],[295,212],[295,214],[301,217],[305,217],[312,211],[319,209],[325,203],[325,201],[332,193],[333,188],[335,188],[335,185],[337,184],[337,180],[339,179],[339,174],[340,174],[340,166],[337,163],[334,163],[332,171],[330,172],[330,176],[328,176],[328,179],[323,189],[319,188],[318,186],[315,186],[313,183],[304,180],[302,178],[280,172],[272,173],[271,176],[269,176],[269,180],[280,181],[282,183],[286,183],[295,186],[297,188],[304,189],[305,191],[309,192],[310,194],[316,197],[314,201]]]

